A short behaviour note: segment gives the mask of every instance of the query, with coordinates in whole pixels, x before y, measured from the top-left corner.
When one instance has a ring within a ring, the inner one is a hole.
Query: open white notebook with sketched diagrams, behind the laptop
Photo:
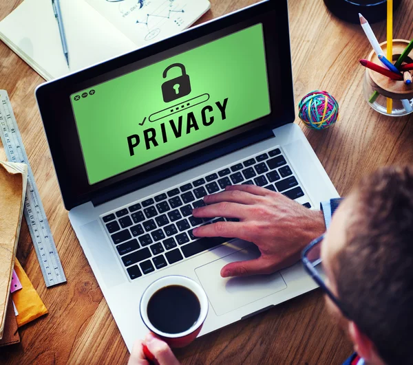
[[[25,0],[0,21],[0,39],[45,80],[131,52],[184,30],[208,0],[61,0],[67,66],[52,0]]]

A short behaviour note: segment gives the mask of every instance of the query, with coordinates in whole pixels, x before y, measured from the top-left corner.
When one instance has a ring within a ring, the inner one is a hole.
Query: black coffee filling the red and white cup
[[[149,299],[147,315],[153,327],[165,333],[181,333],[198,320],[201,305],[198,297],[186,287],[169,285]]]

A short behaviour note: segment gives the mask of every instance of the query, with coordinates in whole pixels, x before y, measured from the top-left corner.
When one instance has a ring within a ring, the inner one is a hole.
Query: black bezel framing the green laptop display
[[[262,23],[264,32],[271,102],[269,115],[96,184],[89,184],[70,95],[257,23]],[[36,89],[36,99],[65,207],[70,210],[87,201],[100,203],[114,199],[257,140],[271,137],[272,129],[294,121],[286,1],[268,0],[251,5],[153,45],[47,82]]]

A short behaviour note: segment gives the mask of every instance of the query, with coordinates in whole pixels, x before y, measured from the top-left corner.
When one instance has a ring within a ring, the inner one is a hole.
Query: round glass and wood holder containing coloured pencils
[[[409,44],[404,39],[394,39],[393,41],[393,63],[399,59],[399,56]],[[383,54],[387,54],[387,42],[381,43]],[[405,63],[413,63],[413,52],[405,59]],[[368,60],[377,65],[382,65],[381,61],[374,53],[374,50],[368,56]],[[391,80],[387,76],[366,69],[363,81],[363,96],[370,107],[384,115],[402,116],[412,113],[413,111],[413,84],[406,85],[403,80]],[[387,99],[392,99],[392,113],[387,111]]]

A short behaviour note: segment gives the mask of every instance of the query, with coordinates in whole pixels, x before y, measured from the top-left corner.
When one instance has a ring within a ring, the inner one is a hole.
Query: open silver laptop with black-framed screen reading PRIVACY
[[[91,51],[92,52],[92,51]],[[203,197],[231,184],[308,208],[338,197],[294,124],[285,0],[269,0],[36,89],[65,208],[129,351],[142,292],[183,275],[209,313],[200,335],[315,289],[301,265],[221,278],[253,243],[198,239]],[[173,316],[173,308],[171,308]]]

